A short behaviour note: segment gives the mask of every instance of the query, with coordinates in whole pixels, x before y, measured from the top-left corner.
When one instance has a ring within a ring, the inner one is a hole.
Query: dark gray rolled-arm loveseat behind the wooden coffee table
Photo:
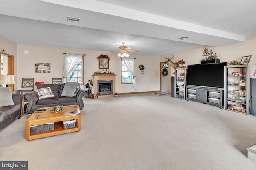
[[[66,83],[66,87],[71,82]],[[79,84],[78,84],[79,85]],[[49,88],[50,87],[50,88]],[[77,86],[76,92],[77,94],[74,94],[74,96],[66,96],[63,94],[65,93],[65,83],[62,84],[38,84],[37,90],[34,90],[32,92],[28,92],[24,95],[24,98],[28,101],[28,106],[26,109],[27,113],[33,113],[36,109],[41,107],[48,107],[48,106],[65,106],[65,105],[72,105],[72,104],[78,104],[80,109],[84,107],[84,102],[82,97],[86,94],[84,90],[80,88],[80,85]],[[48,96],[45,96],[44,98],[40,98],[40,94],[38,93],[38,90],[47,88],[51,91],[52,94],[49,94]],[[69,88],[68,88],[69,90]]]

